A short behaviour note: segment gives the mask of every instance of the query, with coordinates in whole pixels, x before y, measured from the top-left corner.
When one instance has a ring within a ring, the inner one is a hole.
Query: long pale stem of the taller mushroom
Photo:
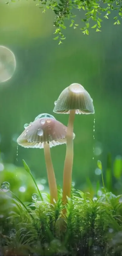
[[[68,128],[67,128],[67,144],[66,157],[64,161],[64,175],[63,175],[63,197],[62,201],[66,203],[67,196],[71,196],[71,182],[72,182],[72,166],[73,166],[73,124],[74,124],[75,110],[70,110]]]

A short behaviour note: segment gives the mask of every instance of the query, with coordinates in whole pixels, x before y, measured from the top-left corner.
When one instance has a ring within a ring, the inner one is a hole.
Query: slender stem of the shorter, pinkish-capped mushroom
[[[57,191],[57,185],[56,185],[56,179],[54,174],[54,168],[51,160],[51,153],[50,153],[50,145],[49,143],[44,143],[44,154],[45,154],[45,163],[47,168],[47,174],[48,174],[48,184],[50,189],[50,203],[54,204],[54,200],[58,200],[58,191]]]

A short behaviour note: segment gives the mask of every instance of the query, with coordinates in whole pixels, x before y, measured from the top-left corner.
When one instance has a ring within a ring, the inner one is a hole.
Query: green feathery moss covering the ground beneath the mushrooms
[[[1,223],[2,255],[122,255],[122,196],[104,193],[97,200],[72,190],[63,205],[14,200]],[[64,208],[67,215],[62,215]]]

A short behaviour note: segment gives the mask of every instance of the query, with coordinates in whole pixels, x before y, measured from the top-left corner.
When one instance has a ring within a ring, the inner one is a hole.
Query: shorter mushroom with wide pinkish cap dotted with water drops
[[[58,192],[50,147],[66,143],[66,134],[65,125],[56,119],[43,117],[32,122],[17,139],[17,143],[25,148],[44,148],[51,204],[58,200]]]

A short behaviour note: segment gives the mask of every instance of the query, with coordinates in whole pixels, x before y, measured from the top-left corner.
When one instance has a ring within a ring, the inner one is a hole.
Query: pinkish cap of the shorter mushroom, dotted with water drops
[[[66,143],[67,127],[53,118],[38,118],[18,137],[17,143],[25,148],[44,148]],[[73,139],[75,134],[73,133]],[[44,143],[43,143],[44,142]]]

